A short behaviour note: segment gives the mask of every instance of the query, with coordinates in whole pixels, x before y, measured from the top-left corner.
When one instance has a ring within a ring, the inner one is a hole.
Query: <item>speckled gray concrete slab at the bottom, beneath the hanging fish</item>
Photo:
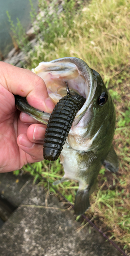
[[[88,227],[77,232],[80,223],[75,222],[73,211],[61,209],[55,196],[47,196],[43,188],[34,186],[0,229],[0,255],[121,255],[93,228],[91,233]]]

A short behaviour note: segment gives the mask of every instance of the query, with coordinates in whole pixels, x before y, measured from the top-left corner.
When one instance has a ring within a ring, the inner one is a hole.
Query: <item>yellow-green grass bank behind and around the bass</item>
[[[130,1],[92,0],[90,4],[65,1],[64,11],[57,15],[57,4],[51,2],[54,14],[49,14],[45,1],[39,2],[44,10],[44,20],[37,20],[38,45],[28,51],[31,69],[41,61],[73,56],[79,57],[100,73],[111,93],[116,107],[116,131],[114,147],[119,156],[119,172],[111,174],[100,170],[98,189],[91,195],[91,208],[86,212],[98,228],[125,249],[130,251]],[[33,14],[32,14],[32,17]],[[48,162],[32,164],[48,180]],[[39,176],[29,165],[23,170],[30,172],[36,181]],[[63,176],[59,160],[52,163],[49,183]],[[43,182],[48,189],[48,181]],[[74,202],[78,183],[64,182],[56,186],[62,195]],[[49,186],[50,192],[55,190]]]

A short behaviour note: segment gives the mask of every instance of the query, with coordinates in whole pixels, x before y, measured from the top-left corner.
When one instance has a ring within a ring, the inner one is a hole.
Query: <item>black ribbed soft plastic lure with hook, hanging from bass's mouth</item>
[[[46,160],[55,161],[58,159],[75,115],[86,101],[79,94],[71,95],[68,87],[67,93],[55,106],[47,124],[43,145],[43,157]]]

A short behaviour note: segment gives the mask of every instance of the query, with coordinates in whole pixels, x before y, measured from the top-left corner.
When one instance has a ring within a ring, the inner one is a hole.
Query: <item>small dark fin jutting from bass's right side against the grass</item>
[[[112,173],[116,173],[118,171],[118,157],[116,155],[113,145],[111,146],[110,151],[102,164],[107,170],[110,170],[110,172]]]

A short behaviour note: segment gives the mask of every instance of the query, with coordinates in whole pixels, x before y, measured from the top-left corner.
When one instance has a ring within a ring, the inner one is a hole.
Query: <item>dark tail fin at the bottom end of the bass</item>
[[[77,190],[74,211],[76,215],[83,214],[90,207],[88,189]]]

